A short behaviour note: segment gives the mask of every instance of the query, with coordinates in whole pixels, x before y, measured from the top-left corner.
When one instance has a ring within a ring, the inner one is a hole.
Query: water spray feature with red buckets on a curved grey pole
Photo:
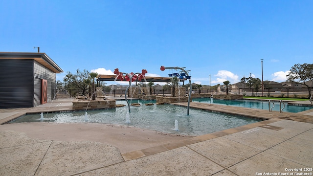
[[[143,78],[144,80],[146,80],[146,77],[145,77],[145,74],[146,74],[146,73],[148,73],[148,71],[145,70],[145,69],[142,69],[142,70],[141,70],[141,73],[133,73],[133,72],[132,72],[132,73],[130,73],[130,74],[128,74],[128,73],[123,73],[123,72],[119,72],[119,71],[118,71],[118,68],[115,68],[115,69],[114,69],[114,74],[117,75],[115,79],[118,79],[118,80],[120,80],[120,81],[123,81],[123,80],[125,79],[126,81],[129,81],[129,86],[128,86],[128,87],[126,88],[126,90],[125,90],[125,100],[126,100],[127,105],[128,105],[128,112],[129,112],[129,113],[131,112],[131,107],[130,107],[130,104],[129,104],[128,99],[127,99],[127,92],[128,92],[128,89],[131,87],[133,81],[136,81],[136,80],[141,81],[142,78]],[[123,76],[123,74],[125,74],[125,77]]]

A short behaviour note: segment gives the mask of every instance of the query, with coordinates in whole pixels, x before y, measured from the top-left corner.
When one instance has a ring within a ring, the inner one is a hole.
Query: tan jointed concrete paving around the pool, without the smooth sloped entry
[[[60,108],[57,105],[50,108]],[[194,106],[205,108],[201,104]],[[233,110],[225,106],[222,109]],[[5,112],[0,110],[1,118],[5,116],[3,114]],[[313,124],[310,116],[292,113],[298,120],[292,121],[283,119],[282,113],[269,115],[261,110],[252,114],[267,116],[268,120],[123,154],[108,144],[30,138],[22,132],[3,131],[0,126],[0,175],[312,175]],[[7,115],[2,119],[6,118]]]

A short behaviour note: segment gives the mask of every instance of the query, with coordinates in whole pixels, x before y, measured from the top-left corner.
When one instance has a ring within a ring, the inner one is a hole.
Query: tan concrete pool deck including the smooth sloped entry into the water
[[[186,103],[180,105],[186,106]],[[131,133],[135,133],[134,139],[145,133],[149,138],[151,131],[88,123],[4,124],[0,125],[0,175],[255,176],[313,173],[310,169],[313,168],[313,110],[279,113],[194,102],[190,106],[268,120],[196,137],[138,140],[133,142],[137,143],[133,147],[129,144]],[[0,122],[26,112],[47,110],[71,110],[71,100],[54,100],[28,109],[0,110]],[[116,135],[112,138],[105,136],[106,130],[113,132],[114,129],[117,129]],[[127,135],[130,137],[123,138]],[[167,135],[158,134],[160,138],[164,136]],[[116,146],[108,142],[114,138],[121,140]]]

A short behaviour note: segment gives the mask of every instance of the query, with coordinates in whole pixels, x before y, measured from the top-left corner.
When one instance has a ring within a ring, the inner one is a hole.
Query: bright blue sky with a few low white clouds
[[[186,67],[211,86],[252,77],[283,82],[313,63],[313,0],[2,0],[0,51],[40,46],[76,69],[168,77]],[[107,82],[108,85],[114,84]],[[127,83],[126,83],[127,84]]]

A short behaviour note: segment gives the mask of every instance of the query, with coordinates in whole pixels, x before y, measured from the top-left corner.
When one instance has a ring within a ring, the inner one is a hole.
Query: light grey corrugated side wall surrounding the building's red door
[[[41,79],[47,80],[47,100],[49,102],[53,99],[51,91],[55,88],[51,88],[51,85],[56,82],[56,74],[34,61],[34,106],[41,105]]]

